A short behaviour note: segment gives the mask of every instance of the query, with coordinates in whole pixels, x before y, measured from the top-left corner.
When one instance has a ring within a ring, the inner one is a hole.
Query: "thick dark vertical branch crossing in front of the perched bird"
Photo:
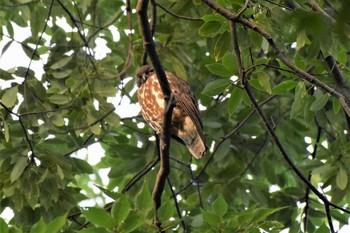
[[[162,130],[160,132],[160,168],[157,174],[156,183],[153,189],[153,200],[155,203],[156,216],[155,223],[160,228],[161,223],[159,222],[157,210],[161,206],[161,197],[164,190],[166,179],[170,173],[170,162],[169,162],[169,149],[170,149],[170,134],[171,134],[171,118],[174,108],[174,97],[171,92],[166,74],[163,70],[162,64],[158,57],[155,49],[151,28],[148,21],[147,15],[148,0],[139,0],[136,12],[138,15],[139,25],[142,33],[142,40],[144,48],[152,61],[153,67],[156,71],[158,82],[164,95],[164,114]],[[155,19],[154,19],[155,20]]]

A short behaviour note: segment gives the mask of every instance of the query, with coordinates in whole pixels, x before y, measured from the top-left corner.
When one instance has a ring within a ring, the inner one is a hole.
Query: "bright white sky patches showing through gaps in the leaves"
[[[62,21],[62,25],[68,25]],[[29,37],[31,35],[30,29],[29,28],[20,28],[16,25],[14,26],[14,31],[15,31],[15,40],[17,41],[23,41],[25,38]],[[66,27],[66,26],[65,26]],[[68,27],[67,27],[68,28]],[[115,36],[116,40],[118,40],[118,32],[115,28],[110,28],[113,35]],[[6,37],[4,37],[3,41],[0,41],[0,51],[2,48],[5,46],[5,44],[9,41]],[[99,59],[102,59],[104,56],[106,56],[109,52],[110,49],[106,47],[105,41],[103,39],[98,39],[96,41],[97,47],[94,49],[96,52],[96,56]],[[37,78],[41,78],[41,76],[44,73],[43,70],[43,65],[46,62],[46,57],[42,57],[42,60],[39,61],[32,61],[31,63],[31,69],[35,71],[35,75]],[[21,46],[13,42],[12,45],[9,47],[9,49],[6,51],[6,53],[2,56],[0,56],[0,68],[4,70],[8,70],[17,66],[23,66],[23,67],[28,67],[29,65],[29,58],[27,55],[23,52]],[[132,80],[133,81],[133,80]],[[21,80],[19,80],[21,82]],[[4,89],[6,87],[9,87],[9,82],[4,82],[0,80],[0,89]],[[121,105],[117,105],[120,101],[120,96],[117,96],[115,98],[111,99],[111,102],[115,104],[116,107],[116,113],[120,115],[120,117],[128,117],[128,116],[135,116],[139,113],[140,108],[136,104],[130,104],[130,101],[127,98],[123,98]],[[90,156],[92,155],[92,156]],[[81,158],[81,159],[86,159],[89,164],[92,166],[97,164],[101,158],[104,156],[104,151],[100,144],[95,143],[92,146],[89,146],[87,149],[82,149],[78,151],[77,154],[74,155],[75,157]],[[105,185],[108,184],[108,174],[109,169],[102,169],[99,171],[99,174],[104,180]],[[93,176],[93,175],[91,175]],[[89,184],[89,186],[96,192],[100,193],[100,191],[93,185]],[[83,201],[81,206],[94,206],[95,203],[98,203],[100,205],[103,204],[102,200],[100,199],[94,199],[94,200],[86,200]],[[10,220],[13,217],[13,212],[11,209],[6,208],[1,214],[0,217],[6,219],[7,221]],[[335,228],[339,228],[339,224],[335,222]],[[348,233],[350,232],[350,226],[345,226],[342,229],[338,231],[339,233]],[[282,233],[288,233],[288,230],[283,231]]]

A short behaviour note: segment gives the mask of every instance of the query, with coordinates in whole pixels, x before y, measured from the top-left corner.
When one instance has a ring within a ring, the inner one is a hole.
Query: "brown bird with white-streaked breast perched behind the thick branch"
[[[205,154],[207,147],[197,100],[185,81],[170,72],[165,73],[176,103],[171,119],[171,136],[184,144],[190,153],[199,159]],[[136,83],[139,87],[138,100],[143,118],[159,133],[165,102],[153,66],[142,66],[136,74]]]

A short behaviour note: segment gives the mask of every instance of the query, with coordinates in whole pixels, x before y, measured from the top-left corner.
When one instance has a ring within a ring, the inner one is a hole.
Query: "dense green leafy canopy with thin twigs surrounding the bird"
[[[145,58],[137,3],[0,0],[0,212],[14,212],[0,232],[159,230],[154,134],[119,111],[137,102],[130,77]],[[171,144],[162,229],[321,233],[348,224],[349,1],[149,8],[162,65],[195,92],[210,147],[194,161]],[[30,36],[18,40],[18,27]],[[27,66],[11,54],[13,67],[2,67],[13,46]],[[93,144],[104,150],[95,166],[76,156]],[[91,199],[102,204],[86,207]]]

